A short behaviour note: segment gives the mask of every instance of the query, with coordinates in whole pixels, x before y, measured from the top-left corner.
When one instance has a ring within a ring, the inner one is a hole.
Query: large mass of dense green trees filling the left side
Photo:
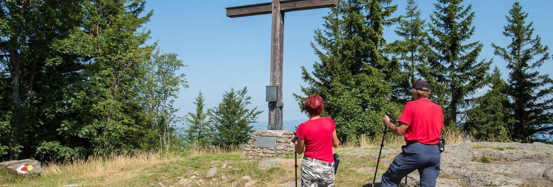
[[[144,3],[0,1],[0,160],[130,152],[162,135],[170,143],[183,65],[145,45]]]

